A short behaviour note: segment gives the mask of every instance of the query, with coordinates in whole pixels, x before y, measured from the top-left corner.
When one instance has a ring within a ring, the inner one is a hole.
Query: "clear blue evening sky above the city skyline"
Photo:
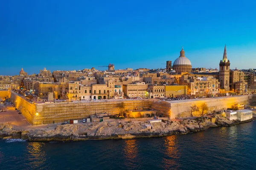
[[[13,0],[0,2],[0,75],[161,68],[184,46],[192,67],[256,68],[256,2]]]

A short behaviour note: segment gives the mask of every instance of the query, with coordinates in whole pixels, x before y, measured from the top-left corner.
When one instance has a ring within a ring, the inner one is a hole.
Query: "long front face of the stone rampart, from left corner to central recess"
[[[51,104],[35,104],[36,112],[33,124],[52,124],[68,121],[70,119],[82,119],[95,113],[107,112],[111,115],[119,114],[119,104],[123,102],[125,109],[133,110],[141,107],[150,108],[150,100],[122,100],[122,101],[102,101],[102,102],[64,102]]]

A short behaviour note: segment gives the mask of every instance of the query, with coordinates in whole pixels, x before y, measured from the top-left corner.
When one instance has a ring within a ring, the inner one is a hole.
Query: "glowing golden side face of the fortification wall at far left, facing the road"
[[[27,119],[30,124],[33,124],[35,117],[35,104],[32,104],[27,98],[18,95],[17,93],[11,91],[10,101],[15,104],[15,107],[20,110],[22,115]]]

